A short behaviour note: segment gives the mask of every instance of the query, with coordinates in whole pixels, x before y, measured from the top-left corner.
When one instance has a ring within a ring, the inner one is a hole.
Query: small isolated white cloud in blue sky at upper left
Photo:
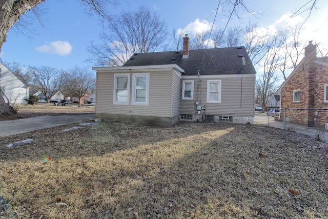
[[[57,54],[61,56],[69,55],[72,52],[72,45],[68,41],[53,41],[35,48],[36,51],[50,54]]]

